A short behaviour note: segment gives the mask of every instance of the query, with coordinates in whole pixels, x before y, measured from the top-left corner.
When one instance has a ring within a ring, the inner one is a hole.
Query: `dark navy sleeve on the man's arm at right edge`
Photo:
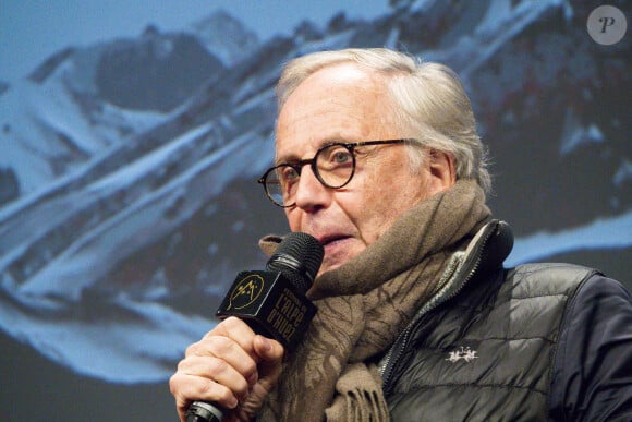
[[[632,296],[619,281],[595,272],[564,311],[551,372],[551,417],[627,418],[632,413],[630,369]]]

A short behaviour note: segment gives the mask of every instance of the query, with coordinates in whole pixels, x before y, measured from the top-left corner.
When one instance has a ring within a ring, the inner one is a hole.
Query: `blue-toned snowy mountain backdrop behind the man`
[[[593,43],[587,13],[397,1],[374,22],[339,14],[266,43],[221,13],[60,51],[0,89],[0,326],[81,374],[165,381],[234,275],[263,266],[256,240],[287,230],[254,183],[272,160],[281,64],[350,46],[462,76],[494,157],[491,208],[519,237],[513,264],[587,250],[627,276],[632,49]]]

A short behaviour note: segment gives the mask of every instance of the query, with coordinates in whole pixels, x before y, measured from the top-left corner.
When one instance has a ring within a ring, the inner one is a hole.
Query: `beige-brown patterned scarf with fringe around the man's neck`
[[[309,290],[318,312],[288,355],[263,421],[388,421],[374,363],[440,289],[451,255],[489,218],[485,195],[459,181],[404,213],[374,244],[324,273]],[[262,249],[271,252],[270,239]]]

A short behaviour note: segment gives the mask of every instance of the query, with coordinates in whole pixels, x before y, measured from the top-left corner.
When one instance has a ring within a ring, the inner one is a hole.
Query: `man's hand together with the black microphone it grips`
[[[181,421],[256,415],[278,381],[283,350],[297,346],[316,312],[305,292],[323,254],[313,237],[290,233],[266,270],[238,275],[217,311],[224,321],[186,350],[170,379]]]

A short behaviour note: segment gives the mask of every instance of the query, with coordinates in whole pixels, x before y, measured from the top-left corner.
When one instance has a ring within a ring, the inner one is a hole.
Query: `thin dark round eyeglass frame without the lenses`
[[[351,180],[353,179],[353,176],[355,174],[355,148],[358,146],[373,146],[373,145],[392,145],[392,144],[405,144],[405,143],[412,143],[415,142],[416,140],[414,138],[398,138],[398,140],[382,140],[382,141],[361,141],[361,142],[332,142],[330,144],[326,144],[323,145],[320,148],[318,148],[318,150],[316,150],[316,154],[314,154],[314,157],[308,158],[308,159],[302,159],[295,162],[280,162],[274,167],[270,167],[269,169],[266,170],[266,172],[264,173],[264,176],[262,176],[260,178],[257,179],[257,183],[260,183],[264,186],[264,191],[266,192],[266,196],[268,197],[268,200],[270,200],[272,202],[272,204],[281,207],[281,208],[290,208],[296,205],[296,202],[294,201],[292,204],[290,205],[283,205],[283,204],[279,204],[277,201],[275,201],[272,198],[272,195],[270,195],[270,193],[268,192],[268,185],[267,185],[267,178],[268,174],[275,170],[277,170],[280,167],[291,167],[294,170],[296,170],[296,173],[299,173],[299,177],[301,176],[301,172],[303,171],[303,167],[305,165],[309,165],[309,167],[312,168],[312,172],[314,173],[314,176],[316,177],[316,179],[318,180],[318,182],[320,184],[323,184],[325,188],[327,189],[341,189],[344,188],[345,185],[348,185]],[[316,166],[316,157],[318,157],[318,155],[327,149],[330,148],[332,146],[342,146],[344,148],[347,148],[347,150],[349,150],[349,153],[351,154],[351,159],[352,159],[352,170],[351,170],[351,174],[349,176],[349,179],[342,183],[341,185],[338,186],[331,186],[329,184],[327,184],[325,182],[325,180],[323,180],[323,177],[320,176],[320,172],[318,171],[318,167]]]

